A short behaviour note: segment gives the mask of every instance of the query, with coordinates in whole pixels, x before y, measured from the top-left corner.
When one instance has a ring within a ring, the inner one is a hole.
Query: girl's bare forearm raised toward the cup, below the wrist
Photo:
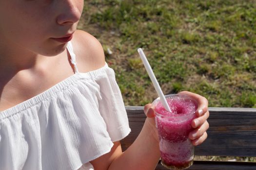
[[[158,164],[159,141],[156,128],[148,118],[134,143],[110,165],[109,170],[155,170]]]

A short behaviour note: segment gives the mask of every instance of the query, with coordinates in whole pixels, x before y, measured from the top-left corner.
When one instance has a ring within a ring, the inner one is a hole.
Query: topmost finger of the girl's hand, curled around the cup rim
[[[198,106],[197,106],[196,114],[198,117],[208,111],[208,101],[205,97],[200,96],[199,94],[196,94],[196,93],[189,92],[189,91],[181,91],[178,94],[188,95],[197,101]]]

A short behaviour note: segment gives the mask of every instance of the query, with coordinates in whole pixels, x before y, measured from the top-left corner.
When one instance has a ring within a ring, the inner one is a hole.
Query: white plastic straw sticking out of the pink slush
[[[150,77],[150,79],[151,79],[151,81],[152,81],[152,83],[153,83],[153,85],[154,85],[154,87],[155,87],[155,89],[156,89],[156,91],[158,93],[158,96],[160,97],[160,101],[162,102],[165,110],[168,110],[169,112],[171,112],[171,109],[170,109],[170,107],[169,107],[169,105],[168,105],[168,103],[167,103],[167,101],[166,101],[166,99],[164,97],[164,94],[163,94],[163,92],[161,90],[161,87],[158,84],[158,80],[157,80],[157,78],[156,78],[152,68],[150,67],[150,64],[149,64],[149,62],[148,62],[148,60],[147,60],[143,50],[141,48],[139,48],[138,49],[138,53],[139,53],[139,56],[140,56],[144,66],[145,66],[145,68],[146,68],[146,70],[148,72],[148,75],[149,75],[149,77]]]

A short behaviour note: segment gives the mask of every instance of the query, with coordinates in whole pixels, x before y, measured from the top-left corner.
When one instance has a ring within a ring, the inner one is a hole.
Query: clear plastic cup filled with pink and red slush
[[[188,138],[196,118],[197,102],[187,95],[165,96],[172,112],[164,109],[159,98],[153,102],[159,136],[161,163],[170,170],[184,170],[193,164],[194,146]]]

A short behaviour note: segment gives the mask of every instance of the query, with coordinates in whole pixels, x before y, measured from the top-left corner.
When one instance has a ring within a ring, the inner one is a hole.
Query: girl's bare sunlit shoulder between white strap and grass
[[[105,65],[103,48],[93,35],[77,30],[72,44],[77,56],[79,72],[92,71]]]

